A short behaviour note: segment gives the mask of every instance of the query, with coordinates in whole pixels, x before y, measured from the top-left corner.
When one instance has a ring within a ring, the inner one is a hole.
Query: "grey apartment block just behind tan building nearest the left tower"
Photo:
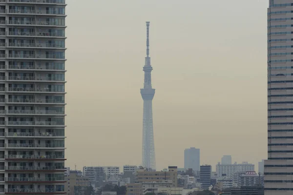
[[[84,176],[88,177],[91,185],[101,186],[106,179],[106,175],[103,167],[84,167]]]

